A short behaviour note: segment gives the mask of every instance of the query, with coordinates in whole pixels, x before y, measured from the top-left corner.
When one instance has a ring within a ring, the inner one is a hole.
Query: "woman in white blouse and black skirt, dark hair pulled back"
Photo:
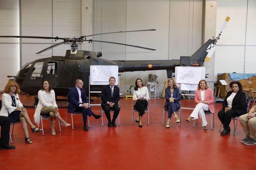
[[[139,127],[142,127],[141,118],[145,114],[145,108],[148,107],[149,94],[148,88],[143,85],[141,78],[137,78],[135,81],[133,100],[136,101],[133,107],[138,111],[138,117],[135,122],[138,122]]]

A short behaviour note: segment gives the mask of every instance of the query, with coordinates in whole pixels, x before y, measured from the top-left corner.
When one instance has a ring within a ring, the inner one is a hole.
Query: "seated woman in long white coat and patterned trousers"
[[[48,80],[44,80],[42,84],[42,89],[38,91],[38,104],[36,107],[36,112],[34,115],[34,120],[36,124],[39,126],[40,123],[40,114],[49,114],[52,124],[52,135],[55,135],[55,119],[56,117],[60,120],[61,125],[63,126],[70,126],[65,122],[61,117],[60,113],[58,112],[58,106],[55,100],[55,92],[52,90],[51,84]]]

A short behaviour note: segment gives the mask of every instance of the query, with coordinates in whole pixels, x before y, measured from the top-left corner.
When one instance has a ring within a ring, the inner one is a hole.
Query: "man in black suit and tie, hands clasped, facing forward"
[[[101,107],[105,111],[105,115],[108,119],[108,127],[116,127],[116,117],[119,114],[120,107],[118,101],[120,99],[119,88],[115,86],[116,79],[114,77],[109,78],[109,85],[104,85],[101,91]],[[113,119],[111,122],[111,117],[109,111],[114,110]]]

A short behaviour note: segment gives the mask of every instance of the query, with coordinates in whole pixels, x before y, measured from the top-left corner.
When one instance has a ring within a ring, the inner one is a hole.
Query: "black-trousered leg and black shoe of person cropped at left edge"
[[[0,149],[15,149],[15,146],[9,145],[11,119],[7,116],[0,116],[1,138]]]

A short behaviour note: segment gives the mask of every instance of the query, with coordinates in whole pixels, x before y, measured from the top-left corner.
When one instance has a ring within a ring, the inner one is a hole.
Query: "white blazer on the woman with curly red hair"
[[[23,107],[22,103],[20,102],[19,95],[14,94],[15,101],[18,108]],[[16,107],[12,106],[12,97],[10,94],[4,93],[2,95],[2,109],[0,111],[0,116],[8,116],[8,114],[12,113]]]

